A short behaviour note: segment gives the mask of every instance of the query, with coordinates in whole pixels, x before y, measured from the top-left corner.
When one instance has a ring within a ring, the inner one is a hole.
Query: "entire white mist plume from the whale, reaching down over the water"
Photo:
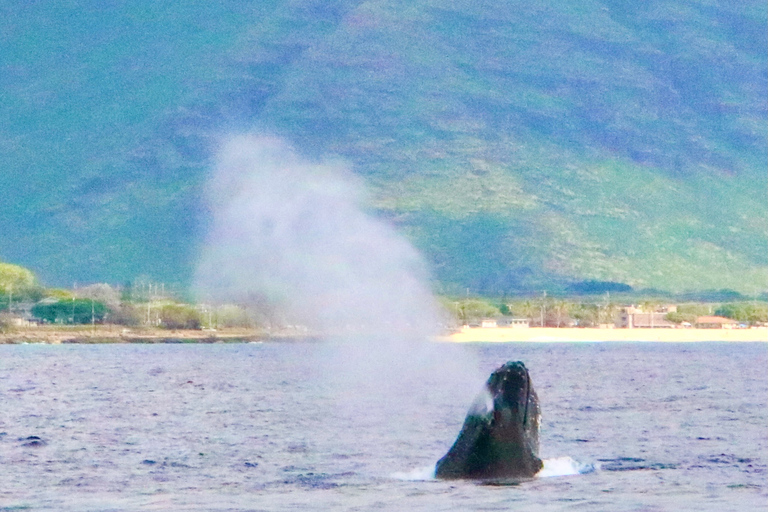
[[[364,200],[341,162],[307,161],[275,138],[229,138],[210,181],[198,288],[220,301],[266,301],[326,335],[320,373],[344,390],[339,401],[376,404],[373,423],[416,414],[433,386],[466,404],[482,382],[474,360],[428,342],[439,314],[426,267]]]

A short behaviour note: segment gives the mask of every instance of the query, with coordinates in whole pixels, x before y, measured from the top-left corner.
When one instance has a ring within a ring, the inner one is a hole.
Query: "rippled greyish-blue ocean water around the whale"
[[[525,362],[538,478],[432,479],[475,390],[423,379],[368,399],[325,378],[318,342],[5,345],[0,511],[768,508],[768,344],[436,350],[477,361],[477,390]]]

